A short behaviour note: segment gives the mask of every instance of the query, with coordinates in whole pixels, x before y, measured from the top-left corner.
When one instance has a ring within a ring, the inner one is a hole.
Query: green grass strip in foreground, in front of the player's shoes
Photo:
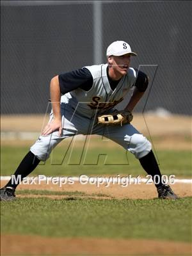
[[[175,201],[17,198],[1,202],[1,232],[190,242],[191,210],[191,198]]]

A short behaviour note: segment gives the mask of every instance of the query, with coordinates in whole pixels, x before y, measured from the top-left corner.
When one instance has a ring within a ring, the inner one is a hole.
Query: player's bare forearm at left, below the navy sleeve
[[[61,92],[60,92],[60,83],[59,83],[58,76],[55,76],[51,79],[50,93],[51,93],[52,112],[54,114],[54,118],[61,120],[61,108],[60,108]]]

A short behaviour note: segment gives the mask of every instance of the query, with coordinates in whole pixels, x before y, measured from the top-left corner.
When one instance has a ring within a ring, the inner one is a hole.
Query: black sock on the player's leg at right
[[[159,186],[162,186],[163,185],[161,182],[162,175],[159,170],[159,166],[157,164],[156,157],[154,156],[154,153],[152,152],[152,150],[150,150],[150,152],[147,154],[147,156],[141,157],[139,160],[140,160],[140,164],[143,167],[143,169],[145,170],[145,172],[147,172],[149,175],[152,176],[153,181],[158,182],[158,184],[155,184],[156,188],[158,188]],[[156,178],[156,177],[154,177],[155,175],[158,175],[159,177]]]

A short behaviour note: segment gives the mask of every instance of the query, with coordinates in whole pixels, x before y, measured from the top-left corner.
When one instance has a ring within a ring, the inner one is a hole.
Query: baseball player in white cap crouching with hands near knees
[[[30,148],[15,171],[21,179],[29,175],[40,161],[65,138],[77,134],[98,134],[109,138],[134,154],[141,166],[152,176],[159,198],[177,199],[170,186],[163,184],[161,172],[152,152],[151,143],[131,125],[132,111],[148,86],[148,77],[130,67],[137,56],[127,42],[116,41],[106,52],[108,63],[83,67],[51,79],[52,111],[49,123]],[[122,111],[115,106],[129,90],[131,99]],[[1,189],[1,200],[13,200],[17,182],[10,180]]]

